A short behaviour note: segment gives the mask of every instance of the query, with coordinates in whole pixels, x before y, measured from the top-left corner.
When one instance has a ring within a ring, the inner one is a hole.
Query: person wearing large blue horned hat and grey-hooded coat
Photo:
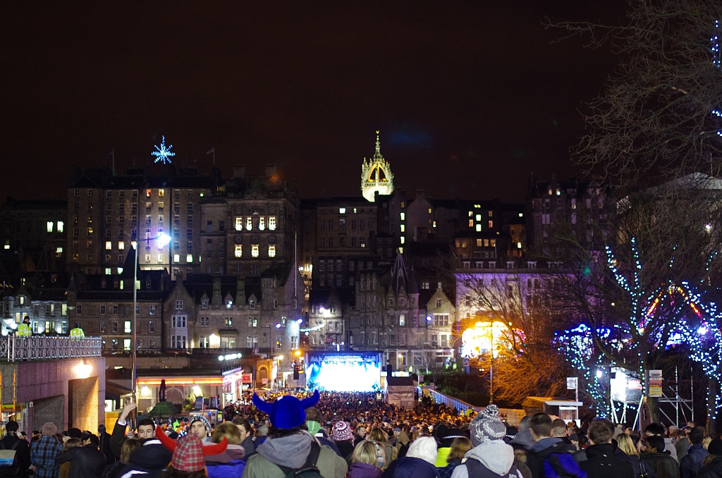
[[[318,403],[318,392],[303,400],[285,395],[267,403],[253,394],[256,408],[269,414],[268,438],[256,448],[243,469],[243,478],[284,478],[292,470],[316,466],[323,478],[344,478],[346,461],[308,433],[305,409]]]

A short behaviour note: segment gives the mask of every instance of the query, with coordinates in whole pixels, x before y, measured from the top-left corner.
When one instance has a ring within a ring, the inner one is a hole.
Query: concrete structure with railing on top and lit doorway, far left
[[[0,337],[2,420],[28,434],[45,422],[97,430],[105,417],[102,346],[100,337]]]

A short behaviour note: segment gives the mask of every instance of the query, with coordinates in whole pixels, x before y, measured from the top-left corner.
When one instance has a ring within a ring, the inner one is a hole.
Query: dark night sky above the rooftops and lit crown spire
[[[498,6],[490,6],[497,4]],[[0,194],[64,198],[70,165],[275,163],[305,197],[359,194],[375,130],[397,187],[521,201],[573,173],[581,103],[613,65],[554,20],[619,1],[5,2]]]

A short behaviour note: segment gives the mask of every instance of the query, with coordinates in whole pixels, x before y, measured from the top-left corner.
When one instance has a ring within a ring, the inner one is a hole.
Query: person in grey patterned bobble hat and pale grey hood
[[[503,478],[522,478],[514,466],[514,449],[504,442],[506,426],[496,405],[488,405],[471,421],[471,444],[464,464],[456,466],[451,478],[474,478],[492,472]]]

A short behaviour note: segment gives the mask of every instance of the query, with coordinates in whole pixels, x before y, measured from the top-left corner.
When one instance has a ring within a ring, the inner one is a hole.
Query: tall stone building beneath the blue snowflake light
[[[85,274],[121,274],[131,242],[142,244],[144,270],[199,271],[201,199],[217,192],[219,173],[194,169],[149,168],[115,175],[101,168],[72,172],[66,221],[67,261]],[[170,235],[160,245],[160,235]]]

